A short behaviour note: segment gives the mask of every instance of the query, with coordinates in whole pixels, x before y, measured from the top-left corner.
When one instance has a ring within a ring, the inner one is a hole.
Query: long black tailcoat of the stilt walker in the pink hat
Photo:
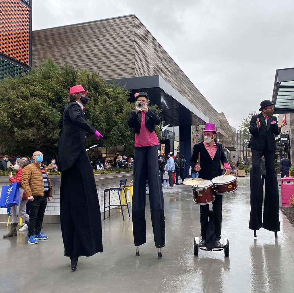
[[[64,171],[73,166],[74,162],[85,151],[86,133],[94,134],[95,128],[87,120],[81,106],[77,102],[69,103],[59,120],[59,170]]]

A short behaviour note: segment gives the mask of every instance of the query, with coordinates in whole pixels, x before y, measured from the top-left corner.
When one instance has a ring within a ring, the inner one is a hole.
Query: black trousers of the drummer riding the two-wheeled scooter
[[[221,235],[221,217],[223,214],[222,204],[223,204],[223,195],[216,194],[215,201],[212,203],[212,209],[214,211],[214,223],[216,232],[216,239],[220,239]],[[208,213],[209,213],[209,204],[200,205],[200,225],[201,225],[201,237],[205,239],[206,230],[208,225]]]

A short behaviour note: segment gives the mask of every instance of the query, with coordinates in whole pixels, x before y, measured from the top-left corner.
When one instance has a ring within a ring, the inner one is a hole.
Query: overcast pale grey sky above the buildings
[[[294,67],[293,0],[33,0],[33,30],[136,14],[238,129]],[[197,105],[196,105],[197,106]]]

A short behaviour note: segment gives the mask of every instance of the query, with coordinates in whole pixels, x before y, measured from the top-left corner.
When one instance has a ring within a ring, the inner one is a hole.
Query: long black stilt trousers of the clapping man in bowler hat
[[[275,170],[275,151],[252,149],[252,168],[250,170],[250,220],[249,229],[263,227],[269,231],[280,231],[279,190]],[[260,175],[262,155],[265,158],[265,197],[262,217],[263,188]]]

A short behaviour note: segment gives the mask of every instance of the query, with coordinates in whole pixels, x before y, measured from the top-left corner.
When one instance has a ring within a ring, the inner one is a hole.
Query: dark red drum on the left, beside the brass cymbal
[[[213,184],[210,180],[203,180],[202,183],[192,185],[193,201],[196,204],[210,204],[214,202]]]

